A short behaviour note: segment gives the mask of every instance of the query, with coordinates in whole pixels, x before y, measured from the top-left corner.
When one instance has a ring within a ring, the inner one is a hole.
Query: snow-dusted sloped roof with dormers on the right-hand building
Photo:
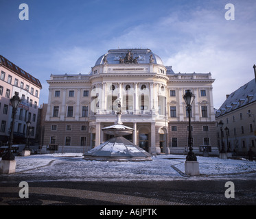
[[[216,117],[222,116],[233,110],[237,110],[249,103],[256,101],[256,83],[255,79],[252,79],[244,86],[238,88],[232,92],[222,103],[219,110],[216,112]]]

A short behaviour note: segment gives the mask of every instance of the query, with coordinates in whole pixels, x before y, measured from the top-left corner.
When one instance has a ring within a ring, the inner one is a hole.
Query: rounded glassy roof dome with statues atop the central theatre
[[[161,64],[161,57],[152,53],[150,49],[110,49],[100,56],[95,66],[100,64]]]

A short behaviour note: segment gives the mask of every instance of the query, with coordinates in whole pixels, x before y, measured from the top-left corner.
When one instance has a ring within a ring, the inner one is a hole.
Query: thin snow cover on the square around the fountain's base
[[[185,155],[159,155],[153,157],[151,162],[100,162],[86,161],[82,158],[82,153],[15,157],[16,173],[20,172],[19,174],[24,176],[34,175],[40,179],[47,176],[47,179],[59,181],[184,179],[184,176],[176,170],[178,168],[181,172],[185,171]],[[256,162],[247,160],[198,156],[198,162],[201,176],[233,175],[240,172],[256,173]]]

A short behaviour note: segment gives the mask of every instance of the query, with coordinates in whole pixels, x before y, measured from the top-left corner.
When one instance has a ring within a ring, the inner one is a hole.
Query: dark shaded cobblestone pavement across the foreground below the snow
[[[40,174],[30,170],[0,175],[0,205],[256,205],[255,172],[221,177],[179,175],[170,181],[75,181],[47,173],[47,168]],[[19,196],[21,181],[29,185],[28,198]],[[227,181],[235,185],[234,198],[225,196]]]

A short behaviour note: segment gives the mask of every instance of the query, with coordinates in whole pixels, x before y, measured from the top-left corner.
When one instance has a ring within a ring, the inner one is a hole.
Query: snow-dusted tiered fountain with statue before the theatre
[[[150,153],[133,144],[123,136],[132,134],[134,129],[121,122],[121,102],[117,105],[117,120],[114,125],[104,127],[104,133],[115,136],[84,153],[84,159],[97,161],[143,162],[152,161]],[[135,133],[136,134],[136,133]]]

